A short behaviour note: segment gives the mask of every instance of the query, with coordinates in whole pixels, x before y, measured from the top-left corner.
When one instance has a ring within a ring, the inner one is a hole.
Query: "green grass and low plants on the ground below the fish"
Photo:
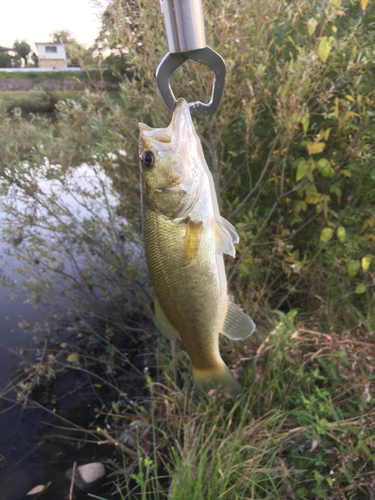
[[[243,380],[236,401],[194,392],[183,352],[185,384],[176,390],[162,347],[165,385],[148,378],[156,443],[123,486],[124,498],[139,498],[140,488],[142,499],[372,498],[375,341],[357,337],[359,330],[297,327],[293,316],[279,313],[276,328],[239,355],[224,344]],[[168,488],[158,474],[169,476]]]

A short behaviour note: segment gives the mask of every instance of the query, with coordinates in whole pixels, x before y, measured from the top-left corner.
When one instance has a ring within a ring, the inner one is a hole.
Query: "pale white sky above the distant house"
[[[50,41],[50,33],[68,29],[87,46],[99,34],[99,10],[90,0],[0,1],[0,45],[12,47],[16,38],[34,42]]]

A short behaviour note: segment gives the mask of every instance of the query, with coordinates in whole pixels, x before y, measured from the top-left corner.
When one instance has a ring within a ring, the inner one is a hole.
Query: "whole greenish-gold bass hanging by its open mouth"
[[[223,254],[235,257],[238,234],[220,215],[185,99],[177,100],[168,127],[139,128],[142,226],[156,326],[170,340],[181,338],[199,388],[236,396],[242,387],[220,356],[219,334],[243,340],[255,329],[228,297]]]

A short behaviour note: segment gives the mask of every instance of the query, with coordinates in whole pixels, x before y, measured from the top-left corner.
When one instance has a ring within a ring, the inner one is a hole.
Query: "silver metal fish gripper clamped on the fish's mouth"
[[[219,106],[225,83],[225,62],[210,47],[206,46],[202,0],[160,0],[164,15],[168,54],[156,70],[156,81],[168,108],[173,111],[176,98],[169,78],[187,59],[206,64],[214,72],[211,99],[189,103],[191,114],[199,111],[204,116],[213,116]]]

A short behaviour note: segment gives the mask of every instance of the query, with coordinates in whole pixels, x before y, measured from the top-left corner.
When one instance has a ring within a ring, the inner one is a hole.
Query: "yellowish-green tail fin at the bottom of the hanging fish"
[[[215,368],[193,367],[193,377],[195,384],[205,390],[219,389],[223,393],[230,392],[233,397],[243,393],[241,384],[233,377],[224,361]]]

